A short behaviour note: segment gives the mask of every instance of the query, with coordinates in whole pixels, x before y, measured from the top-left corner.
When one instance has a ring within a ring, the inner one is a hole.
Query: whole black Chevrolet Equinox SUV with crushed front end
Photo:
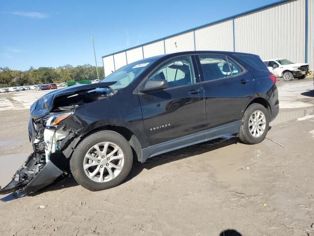
[[[34,152],[0,193],[33,193],[70,172],[84,188],[103,190],[129,175],[133,158],[223,136],[260,143],[279,111],[275,83],[259,56],[193,51],[52,91],[32,104]]]

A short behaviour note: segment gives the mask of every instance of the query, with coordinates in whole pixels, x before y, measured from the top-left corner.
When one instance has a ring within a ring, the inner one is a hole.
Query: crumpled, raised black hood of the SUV
[[[55,98],[60,96],[68,96],[75,94],[79,91],[96,89],[96,88],[104,88],[110,85],[115,84],[116,81],[113,82],[104,82],[90,85],[74,85],[64,89],[54,90],[40,97],[30,106],[30,115],[34,119],[45,117],[49,112],[51,112],[53,108],[53,102]]]

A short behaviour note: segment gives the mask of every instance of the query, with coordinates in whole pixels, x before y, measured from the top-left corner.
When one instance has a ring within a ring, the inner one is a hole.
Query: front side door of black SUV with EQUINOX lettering
[[[150,148],[151,154],[206,138],[205,133],[203,137],[193,136],[206,125],[204,89],[196,81],[194,68],[191,56],[170,59],[148,78],[165,79],[168,88],[139,93],[148,146],[169,141],[155,150]]]

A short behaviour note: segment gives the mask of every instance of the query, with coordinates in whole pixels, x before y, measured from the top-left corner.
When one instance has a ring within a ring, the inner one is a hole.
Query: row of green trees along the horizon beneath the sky
[[[104,78],[103,67],[98,67],[98,73],[100,79]],[[97,79],[96,66],[90,64],[75,67],[72,65],[57,68],[39,67],[38,69],[30,67],[26,71],[0,67],[0,88],[95,79]]]

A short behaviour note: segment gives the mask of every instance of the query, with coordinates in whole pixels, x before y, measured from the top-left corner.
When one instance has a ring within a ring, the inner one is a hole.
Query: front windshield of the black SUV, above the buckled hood
[[[152,62],[154,62],[152,59],[133,62],[116,70],[101,82],[117,81],[117,83],[111,85],[110,88],[123,89],[127,87],[138,75],[140,75],[140,73],[142,73],[142,71],[144,71],[145,68]]]

